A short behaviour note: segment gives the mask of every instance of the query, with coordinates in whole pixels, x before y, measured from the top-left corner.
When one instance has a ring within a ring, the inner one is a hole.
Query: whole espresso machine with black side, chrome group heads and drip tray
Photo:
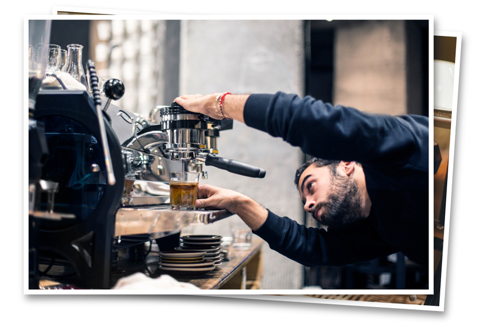
[[[183,167],[203,178],[203,166],[255,178],[265,171],[216,156],[220,132],[231,129],[232,121],[188,112],[176,103],[155,106],[148,117],[131,113],[112,103],[124,94],[120,80],[110,79],[100,90],[93,62],[86,69],[86,91],[60,83],[41,88],[35,101],[32,118],[44,127],[45,149],[36,183],[47,186],[33,189],[37,197],[29,213],[36,227],[30,241],[38,257],[33,264],[43,265],[42,271],[33,268],[40,277],[71,277],[77,287],[107,289],[119,250],[152,240],[161,250],[166,238],[178,242],[189,224],[232,215],[172,210],[170,171]],[[29,146],[30,152],[37,147]],[[65,267],[65,273],[50,275],[52,266]]]

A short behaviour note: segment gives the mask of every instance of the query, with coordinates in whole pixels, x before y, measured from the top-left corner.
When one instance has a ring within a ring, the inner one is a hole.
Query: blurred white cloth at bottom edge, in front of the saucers
[[[142,272],[136,272],[119,279],[112,289],[200,289],[190,283],[179,282],[169,275],[151,278]]]

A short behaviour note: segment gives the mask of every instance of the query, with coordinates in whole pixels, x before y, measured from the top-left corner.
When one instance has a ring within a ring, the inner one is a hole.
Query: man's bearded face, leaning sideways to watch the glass
[[[341,165],[341,164],[340,164]],[[357,182],[329,167],[309,166],[299,179],[304,210],[319,223],[342,229],[362,219]]]

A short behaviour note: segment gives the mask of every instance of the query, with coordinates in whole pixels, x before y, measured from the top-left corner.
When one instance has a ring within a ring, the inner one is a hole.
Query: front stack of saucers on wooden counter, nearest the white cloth
[[[174,250],[159,252],[158,268],[168,274],[202,275],[213,270],[214,261],[204,251]]]

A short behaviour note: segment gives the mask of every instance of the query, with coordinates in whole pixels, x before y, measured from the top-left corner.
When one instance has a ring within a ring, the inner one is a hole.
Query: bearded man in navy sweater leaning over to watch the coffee
[[[237,214],[271,249],[306,266],[401,252],[428,267],[428,118],[363,113],[294,94],[183,95],[186,110],[232,118],[315,156],[297,169],[304,203],[326,228],[306,228],[251,198],[199,186],[198,208]]]

